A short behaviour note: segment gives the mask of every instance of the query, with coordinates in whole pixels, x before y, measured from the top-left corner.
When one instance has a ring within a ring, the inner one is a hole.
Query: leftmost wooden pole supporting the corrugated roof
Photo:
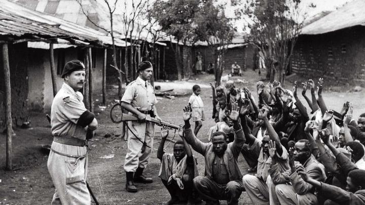
[[[10,87],[10,66],[9,66],[9,52],[8,44],[2,44],[2,55],[3,55],[3,68],[5,76],[5,93],[6,93],[6,104],[5,104],[5,114],[6,114],[6,169],[12,169],[12,115],[11,115],[11,87]]]

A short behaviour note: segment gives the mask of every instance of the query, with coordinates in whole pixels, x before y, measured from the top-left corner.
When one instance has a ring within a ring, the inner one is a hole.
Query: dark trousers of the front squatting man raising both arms
[[[213,180],[198,176],[193,180],[195,189],[206,200],[227,200],[228,205],[238,204],[242,193],[243,184],[239,180],[230,181],[227,184],[217,184]]]

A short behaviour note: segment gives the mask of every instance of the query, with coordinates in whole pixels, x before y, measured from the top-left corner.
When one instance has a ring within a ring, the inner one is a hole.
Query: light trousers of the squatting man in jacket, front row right
[[[275,187],[275,192],[279,198],[280,204],[296,204],[296,205],[309,205],[317,204],[317,196],[312,193],[306,193],[304,195],[296,194],[293,186],[287,184],[278,184]]]

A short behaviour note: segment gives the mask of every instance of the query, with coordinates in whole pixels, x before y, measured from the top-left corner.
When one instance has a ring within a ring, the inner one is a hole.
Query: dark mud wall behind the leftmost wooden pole
[[[9,44],[12,117],[21,125],[28,116],[28,68],[27,43]],[[3,62],[0,55],[0,62]],[[0,63],[0,79],[5,79],[3,63]],[[0,127],[5,123],[5,80],[0,80]]]

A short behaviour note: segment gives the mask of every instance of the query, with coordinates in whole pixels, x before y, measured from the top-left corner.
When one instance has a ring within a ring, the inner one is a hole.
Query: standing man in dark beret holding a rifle
[[[140,62],[137,72],[137,79],[126,87],[121,100],[121,106],[128,110],[129,114],[138,117],[138,121],[128,122],[128,151],[124,161],[127,178],[126,190],[128,192],[138,191],[134,182],[153,182],[152,178],[147,178],[142,174],[148,165],[155,135],[154,124],[145,121],[145,118],[148,114],[161,120],[155,106],[157,103],[155,90],[149,81],[153,72],[151,62]]]

